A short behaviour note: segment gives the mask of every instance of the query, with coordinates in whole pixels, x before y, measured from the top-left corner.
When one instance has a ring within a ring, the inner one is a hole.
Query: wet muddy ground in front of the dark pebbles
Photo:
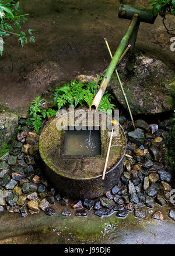
[[[65,208],[53,206],[55,215],[43,212],[21,218],[19,214],[1,213],[0,244],[174,244],[175,224],[167,216],[168,207],[155,206],[149,213],[161,210],[165,220],[137,219],[129,213],[126,219],[115,213],[103,219],[89,211],[88,217],[61,216]]]

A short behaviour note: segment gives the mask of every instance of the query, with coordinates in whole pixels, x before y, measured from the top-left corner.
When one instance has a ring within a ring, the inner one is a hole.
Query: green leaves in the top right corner
[[[159,14],[163,18],[163,25],[167,32],[170,35],[174,35],[171,33],[174,29],[167,29],[164,20],[168,14],[175,15],[175,0],[155,0],[150,1],[148,5],[153,6],[153,12],[155,15]]]

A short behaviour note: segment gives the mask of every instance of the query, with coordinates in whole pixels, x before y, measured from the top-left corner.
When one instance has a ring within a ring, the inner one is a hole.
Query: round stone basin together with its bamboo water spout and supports
[[[112,60],[104,74],[99,91],[90,106],[90,110],[97,110],[115,67],[128,50],[125,49],[125,47],[129,44],[131,45],[129,48],[133,49],[139,23],[154,23],[156,19],[152,9],[137,8],[129,5],[121,5],[118,16],[119,18],[131,19],[131,22],[114,56],[111,56],[108,47]],[[117,71],[116,74],[118,74]],[[120,77],[118,75],[117,77],[121,84]],[[122,92],[124,94],[124,90],[122,90]],[[127,101],[126,97],[125,100]],[[88,110],[85,112],[88,115]],[[132,114],[130,113],[130,115],[133,124]],[[120,179],[127,146],[124,131],[121,125],[118,125],[118,134],[113,136],[110,141],[109,133],[112,128],[108,128],[107,126],[106,129],[102,129],[102,114],[99,120],[99,127],[97,127],[100,131],[98,135],[100,145],[99,151],[94,154],[86,154],[85,151],[81,151],[81,148],[78,148],[83,147],[83,144],[77,144],[82,134],[77,136],[78,134],[75,131],[75,138],[72,138],[73,145],[69,144],[71,140],[68,137],[70,137],[71,134],[68,131],[71,129],[71,125],[75,126],[78,117],[75,117],[75,120],[72,123],[68,116],[69,112],[53,118],[47,123],[41,133],[40,155],[43,159],[47,178],[53,184],[55,189],[64,194],[64,196],[74,199],[90,199],[101,196],[116,185]],[[64,123],[64,119],[67,119],[67,125],[63,125],[62,129],[58,130],[57,124]],[[85,121],[84,127],[88,128],[88,131],[90,129],[92,129],[92,131],[95,130],[95,121],[92,121],[90,127],[89,122]],[[75,142],[74,139],[76,140]],[[88,144],[86,144],[88,146],[93,145],[93,142],[90,141],[90,139],[90,132],[88,132],[88,137],[86,135],[84,136],[84,141],[88,142]],[[110,152],[108,152],[108,161],[106,163],[109,143],[111,143]],[[72,151],[70,151],[71,146],[73,146]],[[105,178],[103,176],[104,179],[102,179],[105,164]]]

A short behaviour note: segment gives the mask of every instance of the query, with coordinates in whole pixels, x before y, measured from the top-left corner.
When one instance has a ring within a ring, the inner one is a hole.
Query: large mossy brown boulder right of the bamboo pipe
[[[157,59],[135,54],[125,66],[127,78],[121,79],[132,114],[157,114],[174,110],[174,73]],[[120,67],[119,67],[120,69]],[[121,77],[125,77],[121,75]],[[123,81],[124,80],[124,81]],[[124,97],[113,74],[108,89],[127,109]]]

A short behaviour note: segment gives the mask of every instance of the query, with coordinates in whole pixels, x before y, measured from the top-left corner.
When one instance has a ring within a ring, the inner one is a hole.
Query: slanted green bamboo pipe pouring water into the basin
[[[132,17],[132,20],[128,26],[127,32],[125,33],[124,37],[122,37],[120,45],[118,46],[113,59],[111,60],[105,74],[103,77],[103,80],[101,81],[99,91],[97,91],[97,94],[95,95],[95,98],[92,101],[92,104],[90,105],[90,110],[97,110],[99,107],[101,98],[103,97],[104,91],[106,90],[106,87],[111,79],[111,76],[114,72],[115,67],[117,66],[118,60],[120,59],[122,52],[125,49],[125,46],[128,43],[129,37],[132,34],[132,31],[135,28],[136,22],[139,19],[138,13],[135,13],[134,16]]]

